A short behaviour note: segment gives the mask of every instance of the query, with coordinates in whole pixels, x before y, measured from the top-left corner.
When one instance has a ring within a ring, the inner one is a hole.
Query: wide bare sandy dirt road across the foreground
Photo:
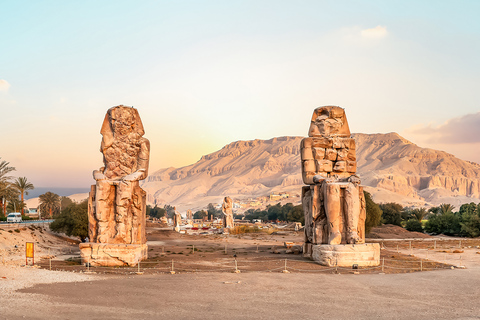
[[[394,275],[200,273],[104,277],[21,289],[15,299],[18,304],[0,306],[1,318],[480,318],[480,268]]]

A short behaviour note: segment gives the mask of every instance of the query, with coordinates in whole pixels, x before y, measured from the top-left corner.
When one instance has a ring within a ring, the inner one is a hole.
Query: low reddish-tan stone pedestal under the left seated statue
[[[147,244],[80,243],[82,263],[91,266],[134,266],[148,258]]]

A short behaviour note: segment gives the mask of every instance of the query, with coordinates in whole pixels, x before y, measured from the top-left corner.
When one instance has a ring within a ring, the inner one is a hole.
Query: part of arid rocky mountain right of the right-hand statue
[[[480,165],[421,148],[397,133],[354,134],[362,184],[379,202],[479,202]]]

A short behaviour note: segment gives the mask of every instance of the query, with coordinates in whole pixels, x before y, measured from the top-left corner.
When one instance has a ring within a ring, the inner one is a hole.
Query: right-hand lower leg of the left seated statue
[[[129,212],[132,205],[133,184],[131,182],[121,182],[117,186],[117,195],[115,198],[115,205],[117,212],[115,221],[117,223],[115,238],[121,243],[131,243],[131,235],[128,232]],[[131,212],[130,212],[131,214]]]

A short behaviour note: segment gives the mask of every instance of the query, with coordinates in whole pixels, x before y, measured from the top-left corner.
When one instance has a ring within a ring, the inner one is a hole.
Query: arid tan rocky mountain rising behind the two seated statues
[[[358,175],[378,202],[438,205],[480,202],[480,166],[443,151],[421,148],[396,133],[354,134]],[[195,164],[151,173],[149,202],[199,209],[224,196],[299,195],[302,137],[232,142]],[[299,197],[289,199],[299,202]]]

